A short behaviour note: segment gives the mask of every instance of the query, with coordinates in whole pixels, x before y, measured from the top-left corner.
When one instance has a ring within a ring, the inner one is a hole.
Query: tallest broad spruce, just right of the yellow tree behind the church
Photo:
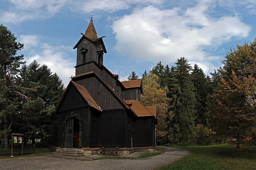
[[[170,111],[173,112],[172,130],[178,142],[188,141],[189,135],[193,131],[195,115],[195,93],[194,85],[191,81],[190,64],[187,59],[181,57],[172,67],[173,78],[168,83],[170,99]]]

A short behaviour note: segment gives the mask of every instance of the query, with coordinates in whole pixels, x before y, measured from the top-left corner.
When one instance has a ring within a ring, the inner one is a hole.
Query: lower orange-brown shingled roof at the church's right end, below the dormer
[[[132,111],[139,117],[141,116],[155,116],[151,111],[148,110],[139,100],[124,100],[130,105]],[[131,104],[130,104],[131,103]],[[153,110],[150,108],[150,110]]]

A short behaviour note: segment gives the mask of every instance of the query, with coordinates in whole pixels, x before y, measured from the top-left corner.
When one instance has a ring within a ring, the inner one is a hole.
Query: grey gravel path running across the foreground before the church
[[[16,159],[0,159],[0,169],[155,169],[168,165],[188,155],[188,151],[175,148],[166,148],[163,154],[142,159],[101,159],[77,160],[56,158],[52,156],[33,156]]]

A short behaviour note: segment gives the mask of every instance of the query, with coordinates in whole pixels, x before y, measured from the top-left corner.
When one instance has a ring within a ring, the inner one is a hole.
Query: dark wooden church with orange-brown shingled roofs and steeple
[[[72,77],[53,115],[53,144],[64,148],[154,147],[156,107],[140,102],[141,79],[122,81],[103,65],[107,53],[91,19],[76,43]]]

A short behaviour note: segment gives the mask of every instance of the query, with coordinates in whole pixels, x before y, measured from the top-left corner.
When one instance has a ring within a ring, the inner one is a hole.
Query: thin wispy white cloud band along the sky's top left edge
[[[99,12],[116,12],[125,10],[133,4],[148,5],[162,4],[162,1],[155,0],[10,0],[10,7],[0,12],[2,23],[18,24],[27,20],[47,19],[59,11],[70,10],[77,13],[94,14]],[[66,11],[65,11],[66,12]],[[100,18],[100,16],[99,16]]]

